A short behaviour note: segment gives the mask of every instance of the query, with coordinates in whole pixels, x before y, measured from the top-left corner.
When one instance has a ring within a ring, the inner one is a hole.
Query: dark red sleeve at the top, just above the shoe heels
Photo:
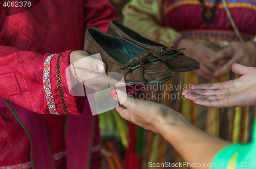
[[[120,20],[117,9],[108,0],[86,0],[84,3],[84,24],[97,27],[103,32],[108,29],[111,20]]]

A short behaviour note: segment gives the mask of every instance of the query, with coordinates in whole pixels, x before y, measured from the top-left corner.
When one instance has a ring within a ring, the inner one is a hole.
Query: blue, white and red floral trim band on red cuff
[[[45,64],[44,64],[44,89],[45,89],[45,94],[46,94],[46,101],[47,105],[49,108],[49,111],[51,114],[54,115],[59,115],[56,107],[55,107],[55,102],[52,94],[52,88],[51,88],[51,78],[50,78],[50,63],[52,60],[52,57],[55,54],[51,54],[46,58]]]

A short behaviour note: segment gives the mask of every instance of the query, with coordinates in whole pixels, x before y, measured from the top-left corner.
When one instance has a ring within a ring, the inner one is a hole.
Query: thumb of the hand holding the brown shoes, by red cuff
[[[92,72],[103,73],[106,70],[106,65],[101,60],[79,55],[79,60],[74,63],[76,68],[87,69]]]

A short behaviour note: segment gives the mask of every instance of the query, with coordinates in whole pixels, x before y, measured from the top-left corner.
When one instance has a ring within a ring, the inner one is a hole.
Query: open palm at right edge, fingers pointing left
[[[207,107],[244,107],[256,105],[256,68],[233,64],[232,71],[242,75],[223,83],[195,85],[183,91],[194,103]]]

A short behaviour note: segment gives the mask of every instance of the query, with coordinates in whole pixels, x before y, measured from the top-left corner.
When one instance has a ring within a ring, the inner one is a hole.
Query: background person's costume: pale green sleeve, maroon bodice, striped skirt
[[[215,1],[204,2],[206,7],[211,8]],[[255,38],[255,1],[227,0],[227,6],[243,39]],[[222,2],[215,11],[215,19],[209,24],[202,20],[202,10],[198,0],[132,0],[123,9],[123,23],[142,36],[166,46],[171,46],[175,39],[181,36],[204,43],[215,50],[218,49],[210,45],[207,40],[209,37],[219,41],[238,41]],[[173,79],[158,84],[159,90],[142,92],[151,96],[164,96],[165,99],[156,100],[152,97],[151,100],[181,112],[191,124],[211,135],[228,139],[233,143],[248,143],[252,137],[252,120],[256,117],[256,107],[208,108],[196,105],[191,100],[178,99],[182,97],[182,91],[191,85],[224,82],[237,77],[230,72],[216,81],[208,81],[193,72],[174,72]],[[168,88],[163,88],[164,86]],[[141,168],[149,168],[149,161],[153,163],[183,161],[161,135],[144,130],[143,137]]]

